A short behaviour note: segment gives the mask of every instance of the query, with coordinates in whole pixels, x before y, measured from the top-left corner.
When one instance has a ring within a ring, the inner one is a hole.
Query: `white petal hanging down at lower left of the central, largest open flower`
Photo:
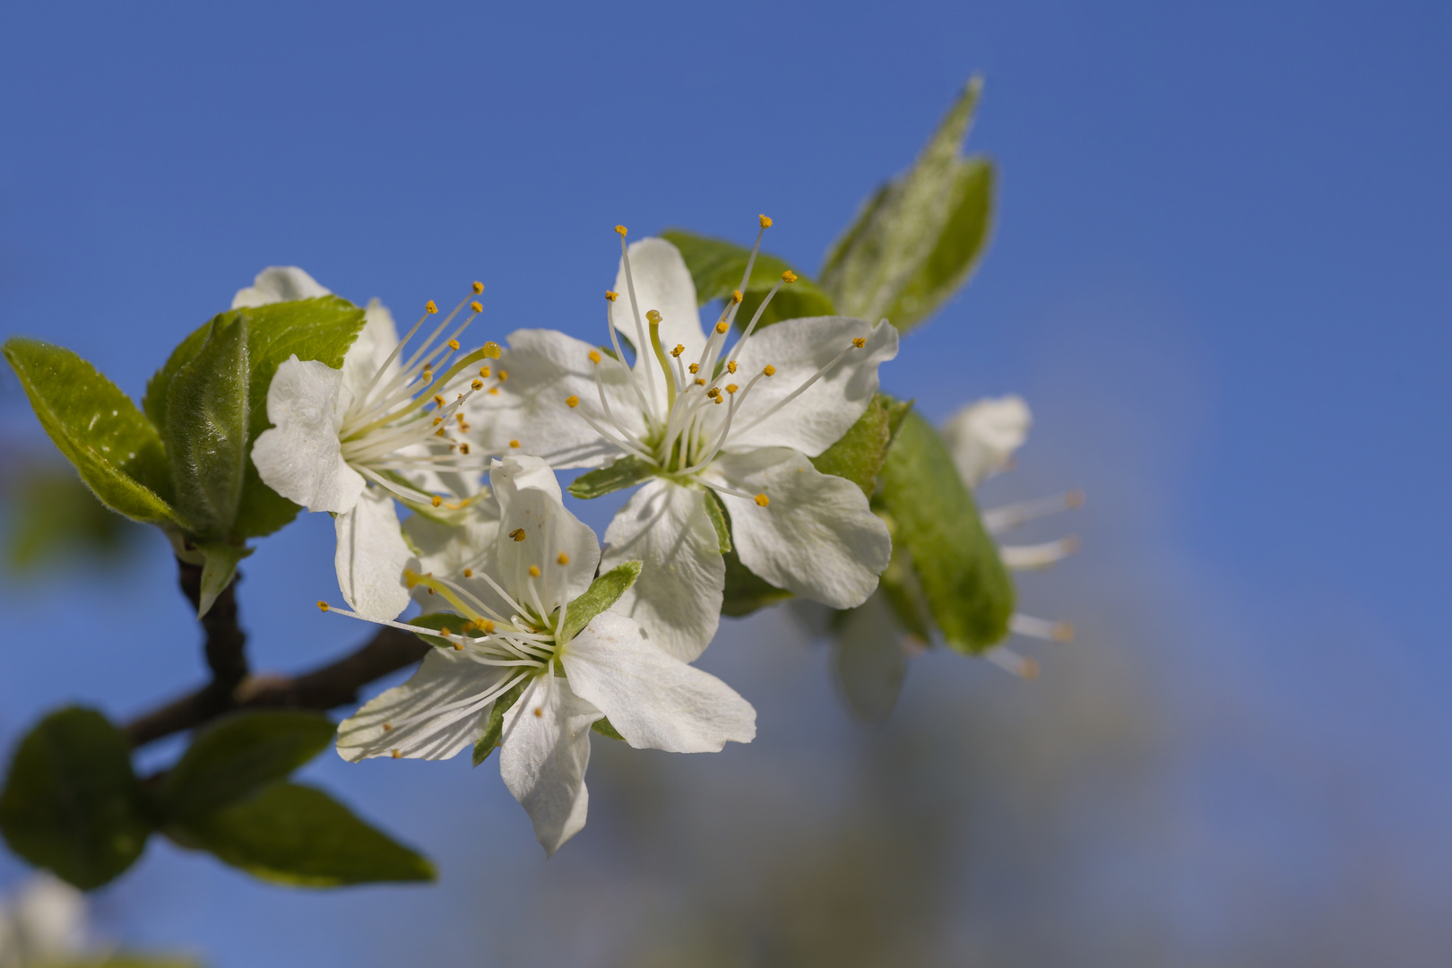
[[[716,636],[726,588],[726,562],[706,499],[694,488],[648,482],[605,528],[600,562],[601,573],[642,563],[640,578],[614,611],[636,620],[650,641],[681,662],[694,660]]]

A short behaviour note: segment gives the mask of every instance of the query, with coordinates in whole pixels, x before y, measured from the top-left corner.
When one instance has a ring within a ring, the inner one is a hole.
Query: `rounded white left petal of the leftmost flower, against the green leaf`
[[[267,387],[273,424],[253,444],[263,483],[309,511],[347,511],[363,491],[363,476],[343,460],[343,374],[318,360],[283,360]]]

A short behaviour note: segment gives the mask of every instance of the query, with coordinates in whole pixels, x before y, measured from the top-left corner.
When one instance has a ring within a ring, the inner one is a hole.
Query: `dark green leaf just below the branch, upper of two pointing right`
[[[234,713],[199,730],[157,795],[166,817],[186,823],[285,779],[327,749],[337,727],[295,710]]]

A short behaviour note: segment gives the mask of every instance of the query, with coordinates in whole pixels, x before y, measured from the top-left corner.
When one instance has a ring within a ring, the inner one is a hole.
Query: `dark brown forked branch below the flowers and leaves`
[[[202,567],[177,562],[182,591],[193,607],[202,591]],[[248,675],[247,636],[237,624],[234,581],[202,618],[206,665],[212,681],[125,726],[132,746],[189,730],[238,708],[331,710],[356,702],[359,689],[424,657],[428,646],[399,628],[380,628],[357,652],[296,676]]]

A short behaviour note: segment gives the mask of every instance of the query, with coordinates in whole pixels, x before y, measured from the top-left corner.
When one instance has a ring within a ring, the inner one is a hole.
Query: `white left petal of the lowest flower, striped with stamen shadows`
[[[460,624],[463,620],[459,620]],[[482,666],[453,649],[424,656],[408,682],[369,700],[338,726],[338,756],[449,759],[478,739],[494,705],[481,701],[508,669]]]

